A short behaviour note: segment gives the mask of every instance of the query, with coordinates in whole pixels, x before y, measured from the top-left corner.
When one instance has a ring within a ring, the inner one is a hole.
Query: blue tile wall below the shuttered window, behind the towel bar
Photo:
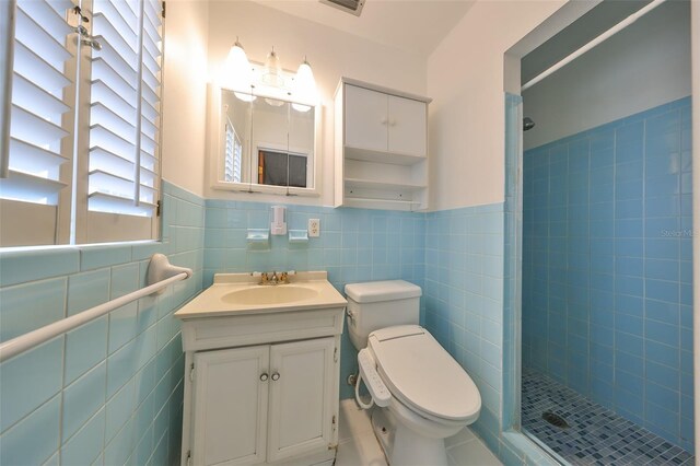
[[[0,339],[142,287],[164,253],[195,276],[0,365],[0,464],[175,464],[184,357],[173,313],[202,287],[205,202],[163,183],[163,242],[0,253]]]

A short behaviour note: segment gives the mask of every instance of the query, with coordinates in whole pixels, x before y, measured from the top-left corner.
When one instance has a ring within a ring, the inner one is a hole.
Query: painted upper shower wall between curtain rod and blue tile
[[[666,2],[525,91],[525,149],[690,95],[689,7]]]

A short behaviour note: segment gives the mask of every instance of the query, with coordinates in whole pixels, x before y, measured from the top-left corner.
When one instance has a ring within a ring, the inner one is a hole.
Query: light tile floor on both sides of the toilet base
[[[445,445],[451,466],[501,465],[501,462],[469,428],[446,439]],[[340,401],[336,466],[386,466],[382,447],[372,431],[369,412],[359,409],[353,399]]]

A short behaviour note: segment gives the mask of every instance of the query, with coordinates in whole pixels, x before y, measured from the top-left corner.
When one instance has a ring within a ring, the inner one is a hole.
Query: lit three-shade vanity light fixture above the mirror
[[[236,37],[223,67],[222,88],[234,91],[234,95],[253,102],[261,95],[270,105],[283,105],[283,101],[293,101],[298,112],[308,112],[318,102],[316,80],[311,65],[304,57],[296,74],[282,70],[275,47],[268,54],[265,65],[252,65]]]

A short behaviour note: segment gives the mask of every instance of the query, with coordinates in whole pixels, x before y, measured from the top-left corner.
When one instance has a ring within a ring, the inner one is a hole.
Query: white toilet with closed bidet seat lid
[[[418,325],[421,289],[404,280],[346,286],[348,334],[360,351],[358,385],[380,409],[372,426],[389,464],[446,465],[444,439],[477,420],[474,381]],[[360,406],[368,408],[359,396]]]

